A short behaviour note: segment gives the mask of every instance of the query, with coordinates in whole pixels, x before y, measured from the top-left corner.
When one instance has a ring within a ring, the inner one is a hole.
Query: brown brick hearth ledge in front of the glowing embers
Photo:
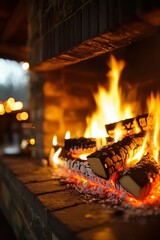
[[[0,207],[20,240],[160,239],[160,216],[126,220],[27,157],[1,157]]]

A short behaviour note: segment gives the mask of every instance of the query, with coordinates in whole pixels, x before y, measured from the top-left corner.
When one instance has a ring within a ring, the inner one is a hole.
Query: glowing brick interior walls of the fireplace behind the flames
[[[146,113],[147,97],[151,92],[159,92],[159,38],[160,35],[156,34],[132,46],[112,52],[116,61],[125,62],[119,76],[119,86],[123,101],[130,101],[132,104],[137,102],[132,117]],[[57,71],[45,72],[41,77],[42,81],[38,81],[36,86],[43,85],[41,93],[43,102],[40,102],[37,108],[41,108],[43,115],[41,137],[46,155],[49,153],[53,135],[57,136],[60,144],[63,144],[68,130],[73,138],[84,136],[86,118],[97,108],[93,95],[97,93],[98,85],[107,89],[109,84],[107,74],[110,56],[110,53],[104,54]],[[114,90],[118,91],[113,86],[113,92]],[[110,120],[114,121],[118,119]],[[37,124],[38,127],[40,121]]]

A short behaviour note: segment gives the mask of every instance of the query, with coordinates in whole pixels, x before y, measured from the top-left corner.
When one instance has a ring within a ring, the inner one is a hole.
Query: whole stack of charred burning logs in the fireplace
[[[106,126],[112,138],[117,123]],[[147,154],[134,166],[128,167],[127,161],[133,158],[142,148],[146,130],[152,130],[152,117],[148,114],[121,121],[122,130],[127,132],[122,140],[110,143],[96,150],[93,138],[66,139],[64,148],[68,152],[66,165],[73,171],[84,172],[84,175],[100,177],[103,183],[116,175],[116,181],[134,197],[143,200],[150,192],[153,182],[159,174],[159,165]],[[134,133],[136,127],[139,133]],[[130,135],[129,135],[130,132]],[[90,152],[87,161],[75,159],[74,154]],[[79,164],[77,164],[79,163]],[[92,174],[90,174],[92,170]],[[85,176],[86,177],[86,176]],[[95,178],[96,179],[96,178]],[[96,179],[97,181],[97,179]],[[104,184],[103,184],[104,185]],[[107,184],[106,184],[107,186]],[[116,184],[115,184],[116,186]]]

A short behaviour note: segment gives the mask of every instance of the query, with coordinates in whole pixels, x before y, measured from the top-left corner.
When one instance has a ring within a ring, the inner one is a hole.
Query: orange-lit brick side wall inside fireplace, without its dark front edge
[[[45,153],[50,149],[53,135],[57,135],[61,144],[64,143],[67,130],[71,132],[72,137],[84,135],[86,116],[95,108],[92,92],[98,81],[96,77],[65,69],[45,73],[43,87]]]

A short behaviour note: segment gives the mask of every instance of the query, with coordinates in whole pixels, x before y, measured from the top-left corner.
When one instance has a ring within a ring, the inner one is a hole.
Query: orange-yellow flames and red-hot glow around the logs
[[[87,118],[87,129],[85,132],[85,137],[93,137],[97,138],[97,146],[98,148],[102,145],[106,144],[106,130],[105,125],[112,122],[118,122],[123,119],[131,118],[137,114],[140,114],[137,112],[139,110],[139,106],[135,107],[135,103],[132,103],[131,105],[126,104],[124,102],[124,98],[122,96],[122,92],[119,88],[119,78],[121,75],[121,72],[125,66],[125,62],[120,60],[116,61],[116,59],[111,56],[111,60],[109,62],[110,71],[106,75],[109,78],[109,88],[108,90],[104,89],[103,87],[98,87],[98,93],[94,94],[94,98],[97,104],[97,110],[96,112],[91,116],[91,118]],[[153,131],[150,133],[150,131],[147,132],[143,145],[139,152],[134,156],[134,158],[129,159],[127,161],[128,165],[136,164],[142,157],[145,155],[148,151],[148,143],[150,144],[151,137],[153,138],[153,147],[152,155],[154,155],[154,158],[158,161],[159,158],[159,152],[160,152],[160,94],[157,94],[154,96],[151,94],[150,98],[147,101],[148,103],[148,112],[151,116],[153,116]],[[136,112],[135,112],[136,109]],[[134,113],[134,114],[133,114]],[[135,132],[139,132],[140,128],[135,121]],[[115,141],[118,141],[122,137],[122,128],[121,125],[117,125],[117,129],[115,131]],[[67,131],[65,135],[65,139],[70,138],[70,132]],[[152,145],[152,144],[150,144]],[[85,185],[84,189],[91,188],[92,186],[97,185],[97,187],[100,186],[100,183],[95,183],[92,180],[88,180],[85,177],[73,173],[72,170],[69,170],[67,165],[64,164],[59,158],[59,154],[61,152],[61,148],[59,148],[53,155],[53,166],[60,166],[60,169],[63,169],[66,167],[66,174],[68,173],[71,181],[75,180],[76,184],[78,184],[80,181],[82,183],[87,183],[88,185]],[[149,146],[150,151],[150,146]],[[79,154],[78,158],[86,160],[87,153]],[[77,156],[75,155],[75,158]],[[62,170],[62,172],[64,172]],[[150,183],[152,184],[152,190],[149,193],[149,195],[145,198],[145,200],[137,200],[134,197],[130,197],[130,195],[126,195],[126,199],[134,206],[138,207],[142,203],[148,204],[148,203],[154,203],[160,196],[160,181],[159,177],[154,180],[152,177],[149,179]],[[110,182],[113,181],[113,188],[110,187],[107,189],[108,192],[116,192],[117,194],[121,194],[120,191],[116,190],[114,188],[115,179],[110,179]],[[87,186],[87,187],[86,187]],[[106,188],[101,185],[103,189],[106,190]]]

